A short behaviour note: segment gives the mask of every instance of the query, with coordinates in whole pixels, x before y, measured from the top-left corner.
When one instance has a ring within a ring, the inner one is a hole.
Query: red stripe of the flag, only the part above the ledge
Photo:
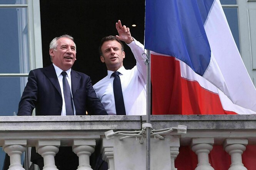
[[[219,95],[181,77],[174,57],[151,54],[152,114],[236,114],[225,111]]]

